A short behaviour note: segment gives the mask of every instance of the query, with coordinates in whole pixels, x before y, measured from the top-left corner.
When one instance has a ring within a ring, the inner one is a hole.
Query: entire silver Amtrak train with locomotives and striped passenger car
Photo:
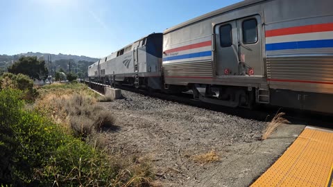
[[[153,33],[88,68],[126,84],[228,107],[333,113],[333,1],[246,0]]]

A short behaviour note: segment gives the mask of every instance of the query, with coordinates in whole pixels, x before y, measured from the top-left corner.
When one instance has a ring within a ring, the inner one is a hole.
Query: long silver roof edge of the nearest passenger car
[[[191,25],[191,24],[195,24],[196,22],[201,21],[203,19],[208,19],[210,17],[214,17],[216,15],[221,15],[221,14],[223,14],[225,12],[229,12],[229,11],[235,10],[237,8],[242,8],[242,7],[245,7],[245,6],[250,6],[250,5],[253,5],[255,3],[262,2],[262,1],[267,1],[267,0],[245,0],[245,1],[241,1],[239,3],[235,3],[235,4],[231,5],[231,6],[227,6],[225,8],[221,8],[219,10],[214,10],[213,12],[209,12],[209,13],[207,13],[205,15],[196,17],[194,19],[190,19],[189,21],[185,21],[182,24],[178,24],[176,26],[168,28],[167,30],[164,30],[163,34],[167,34],[167,33],[172,32],[173,30],[177,30],[179,28],[183,28],[185,26],[188,26],[188,25]]]

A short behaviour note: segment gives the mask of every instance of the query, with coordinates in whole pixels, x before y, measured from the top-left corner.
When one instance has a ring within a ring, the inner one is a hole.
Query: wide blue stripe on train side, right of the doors
[[[297,48],[327,48],[327,47],[333,47],[333,39],[266,44],[266,51],[297,49]]]

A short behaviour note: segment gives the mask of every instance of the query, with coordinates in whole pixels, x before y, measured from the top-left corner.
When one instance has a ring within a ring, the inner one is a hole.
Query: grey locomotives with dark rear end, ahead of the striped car
[[[88,67],[89,80],[161,89],[162,33],[153,33]]]

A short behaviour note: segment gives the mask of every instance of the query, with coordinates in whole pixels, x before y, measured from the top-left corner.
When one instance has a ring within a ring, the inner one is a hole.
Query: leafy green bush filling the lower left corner
[[[3,186],[110,186],[121,168],[103,152],[27,112],[22,92],[0,91],[0,184]],[[125,178],[125,181],[130,176]]]

